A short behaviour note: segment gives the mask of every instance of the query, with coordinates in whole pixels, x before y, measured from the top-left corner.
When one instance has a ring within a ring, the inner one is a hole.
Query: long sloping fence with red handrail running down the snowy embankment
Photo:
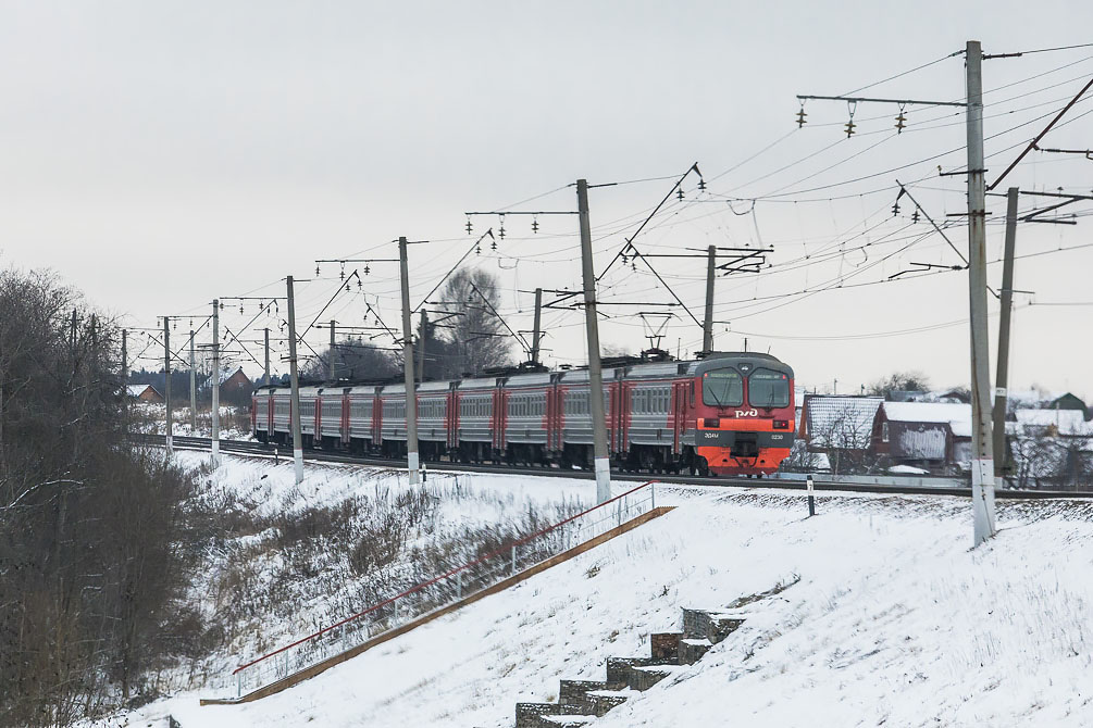
[[[236,697],[341,654],[413,619],[487,588],[508,576],[600,536],[656,508],[656,484],[645,482],[474,561],[251,660],[232,672]]]

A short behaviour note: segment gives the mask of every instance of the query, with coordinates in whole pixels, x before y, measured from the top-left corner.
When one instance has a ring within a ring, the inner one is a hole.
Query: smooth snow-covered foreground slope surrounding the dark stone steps
[[[591,494],[474,478],[514,500]],[[678,630],[681,607],[796,577],[596,725],[1093,725],[1093,505],[1000,504],[998,537],[973,551],[961,499],[823,494],[814,518],[801,497],[762,489],[661,502],[679,508],[286,692],[208,707],[210,691],[180,692],[128,725],[507,727],[516,702],[556,700],[560,678],[602,680],[608,657],[648,655],[646,635]]]

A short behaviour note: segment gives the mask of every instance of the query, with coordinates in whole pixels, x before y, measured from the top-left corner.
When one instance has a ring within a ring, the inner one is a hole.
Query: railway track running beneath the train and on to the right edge
[[[149,444],[149,445],[164,445],[165,438],[162,434],[144,434],[144,433],[131,433],[130,439],[133,442]],[[212,441],[209,438],[192,438],[175,435],[174,447],[177,450],[210,450],[212,447]],[[284,457],[290,458],[292,454],[287,455],[271,444],[263,444],[261,442],[250,442],[244,440],[221,440],[220,449],[224,453],[231,453],[235,455],[252,455],[259,457]],[[320,462],[320,463],[342,463],[350,465],[369,465],[375,467],[386,467],[386,468],[399,468],[404,467],[402,461],[388,460],[380,457],[366,457],[350,455],[348,453],[336,453],[328,452],[324,450],[305,450],[304,460]],[[595,480],[596,476],[591,472],[586,470],[561,470],[556,467],[514,467],[509,465],[474,465],[467,463],[449,463],[449,462],[428,462],[425,464],[430,470],[440,470],[440,472],[459,472],[459,473],[489,473],[494,475],[521,475],[521,476],[532,476],[532,477],[566,477],[566,478],[577,478],[581,480]],[[633,482],[645,482],[650,477],[648,473],[622,473],[612,472],[612,480],[620,481],[633,481]],[[715,477],[698,477],[698,476],[686,476],[686,475],[668,475],[668,474],[657,474],[654,477],[659,482],[682,485],[682,486],[716,486],[716,487],[727,487],[727,488],[772,488],[772,489],[783,489],[783,490],[804,490],[807,488],[806,480],[803,477],[801,479],[788,479],[788,478],[765,478],[762,480],[753,480],[748,478],[715,478]],[[891,479],[891,478],[890,478]],[[916,478],[921,480],[921,478]],[[848,481],[815,481],[813,487],[818,491],[842,491],[842,492],[858,492],[858,493],[886,493],[886,494],[901,494],[901,496],[963,496],[965,498],[972,497],[972,488],[968,487],[952,487],[949,485],[882,485],[882,484],[863,484],[863,482],[848,482]],[[1058,491],[1058,490],[1014,490],[1014,489],[1001,489],[995,492],[997,499],[1007,500],[1059,500],[1059,499],[1093,499],[1093,491]]]

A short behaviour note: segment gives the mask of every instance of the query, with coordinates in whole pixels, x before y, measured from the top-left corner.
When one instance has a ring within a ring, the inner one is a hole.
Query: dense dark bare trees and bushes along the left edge
[[[126,439],[120,330],[0,271],[0,725],[63,726],[185,653],[192,482]]]

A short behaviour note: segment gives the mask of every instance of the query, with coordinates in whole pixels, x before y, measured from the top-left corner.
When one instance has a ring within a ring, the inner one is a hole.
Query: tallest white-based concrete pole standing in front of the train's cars
[[[592,416],[592,457],[596,502],[611,499],[611,455],[608,453],[607,416],[603,411],[603,371],[600,369],[600,330],[596,313],[596,271],[592,268],[592,228],[588,218],[588,180],[577,180],[580,222],[580,262],[585,287],[585,330],[588,335],[588,409]]]

